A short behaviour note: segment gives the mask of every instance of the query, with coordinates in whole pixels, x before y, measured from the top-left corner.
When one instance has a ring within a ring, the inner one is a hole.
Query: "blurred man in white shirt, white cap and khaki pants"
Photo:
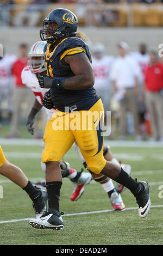
[[[120,138],[124,139],[127,130],[127,111],[133,114],[135,136],[139,137],[137,117],[138,76],[140,68],[137,62],[127,54],[126,42],[118,44],[119,57],[115,59],[111,70],[111,80],[116,99],[120,102]]]

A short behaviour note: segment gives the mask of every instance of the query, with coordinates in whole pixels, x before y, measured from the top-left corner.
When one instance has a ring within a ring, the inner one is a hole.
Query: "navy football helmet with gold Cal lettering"
[[[57,28],[55,23],[58,25]],[[51,11],[43,20],[40,38],[52,44],[56,39],[76,36],[77,28],[77,16],[70,10],[58,8]]]

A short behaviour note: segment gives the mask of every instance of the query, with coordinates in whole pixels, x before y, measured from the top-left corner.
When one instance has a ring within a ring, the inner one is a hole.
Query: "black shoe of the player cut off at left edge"
[[[47,192],[46,190],[40,190],[40,192],[41,196],[38,199],[33,200],[33,208],[35,209],[36,218],[40,218],[47,212]]]

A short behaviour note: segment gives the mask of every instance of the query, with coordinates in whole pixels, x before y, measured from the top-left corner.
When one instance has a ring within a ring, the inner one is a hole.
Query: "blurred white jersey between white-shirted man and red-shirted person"
[[[141,69],[140,83],[144,82],[145,71],[149,64],[149,54],[141,54],[140,52],[130,52],[130,55],[137,61]]]

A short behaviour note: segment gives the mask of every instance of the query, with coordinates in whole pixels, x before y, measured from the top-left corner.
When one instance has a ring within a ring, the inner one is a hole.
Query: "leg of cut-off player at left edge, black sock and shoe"
[[[36,188],[32,182],[28,180],[26,175],[20,168],[7,161],[0,145],[0,174],[20,186],[27,192],[33,201],[35,208],[35,217],[39,218],[47,211],[47,193],[46,190]]]

